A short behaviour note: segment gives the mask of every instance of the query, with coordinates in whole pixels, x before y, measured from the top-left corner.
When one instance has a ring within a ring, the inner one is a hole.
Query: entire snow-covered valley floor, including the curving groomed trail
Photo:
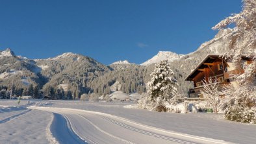
[[[0,101],[0,141],[1,143],[57,143],[57,141],[84,143],[84,140],[88,143],[255,143],[256,141],[256,125],[226,121],[222,114],[158,113],[140,110],[136,105],[129,106],[131,104],[133,103],[31,101],[28,105],[27,100],[22,100],[21,106],[17,108],[16,101]]]

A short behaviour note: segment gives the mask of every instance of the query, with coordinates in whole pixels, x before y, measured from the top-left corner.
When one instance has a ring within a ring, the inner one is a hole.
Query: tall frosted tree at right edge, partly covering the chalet
[[[233,32],[227,35],[230,40],[230,50],[224,56],[231,58],[237,69],[243,68],[245,71],[234,77],[239,86],[237,88],[230,86],[225,91],[225,95],[231,97],[225,117],[232,121],[256,123],[256,1],[242,0],[242,3],[242,11],[239,14],[225,18],[212,29],[224,29],[230,24],[236,25]],[[243,54],[251,58],[251,64],[242,62]]]

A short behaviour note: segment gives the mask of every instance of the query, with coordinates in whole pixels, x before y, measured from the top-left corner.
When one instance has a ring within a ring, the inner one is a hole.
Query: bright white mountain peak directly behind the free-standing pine
[[[161,60],[168,60],[169,62],[173,62],[173,60],[179,60],[183,56],[183,54],[172,53],[170,51],[159,51],[159,53],[153,56],[153,58],[147,60],[140,65],[149,66],[150,64],[155,64],[157,62],[160,62]]]

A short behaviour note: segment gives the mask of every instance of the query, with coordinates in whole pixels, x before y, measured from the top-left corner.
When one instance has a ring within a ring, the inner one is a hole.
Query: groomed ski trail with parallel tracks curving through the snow
[[[53,112],[55,117],[60,115],[66,119],[70,130],[72,130],[80,140],[70,139],[68,134],[63,134],[60,143],[66,143],[65,138],[69,139],[69,143],[227,143],[216,139],[201,138],[186,134],[179,134],[160,128],[135,123],[122,117],[100,112],[92,112],[86,110],[77,110],[71,108],[49,108],[31,106],[31,109],[45,110]],[[60,115],[58,115],[60,114]],[[63,123],[63,121],[61,122]],[[55,125],[55,129],[61,128],[61,125]],[[52,125],[52,126],[53,126]],[[58,127],[60,126],[60,127]],[[63,131],[63,130],[62,130]],[[53,132],[54,134],[55,132]],[[71,133],[69,133],[71,135]]]

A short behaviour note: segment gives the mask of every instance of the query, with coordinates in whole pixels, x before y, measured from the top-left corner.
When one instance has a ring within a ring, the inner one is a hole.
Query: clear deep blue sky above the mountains
[[[72,52],[103,64],[186,54],[211,40],[241,0],[2,0],[0,49],[28,58]]]

